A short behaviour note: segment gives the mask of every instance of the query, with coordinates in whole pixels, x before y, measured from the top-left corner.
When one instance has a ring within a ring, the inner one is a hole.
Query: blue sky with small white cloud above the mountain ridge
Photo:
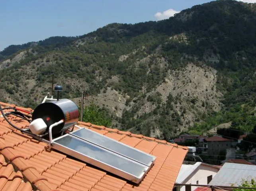
[[[86,34],[109,23],[156,21],[205,2],[210,0],[2,0],[0,51],[50,36]]]

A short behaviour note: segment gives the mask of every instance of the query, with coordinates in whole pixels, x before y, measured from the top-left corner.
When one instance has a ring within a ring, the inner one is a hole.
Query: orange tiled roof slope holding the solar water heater
[[[0,104],[5,107],[14,106],[1,102]],[[32,111],[30,108],[27,110]],[[28,122],[18,117],[9,116],[9,119],[20,128],[28,127]],[[1,153],[22,172],[26,180],[41,191],[172,190],[188,152],[187,147],[90,123],[78,124],[156,156],[154,166],[139,185],[133,185],[90,164],[50,150],[46,143],[12,128],[4,118],[0,118]]]

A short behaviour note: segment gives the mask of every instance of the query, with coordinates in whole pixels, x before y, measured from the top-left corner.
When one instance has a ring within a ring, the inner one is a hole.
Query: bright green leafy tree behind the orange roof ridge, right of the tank
[[[98,107],[93,102],[84,109],[83,121],[106,127],[111,126],[111,118],[109,117],[107,110],[105,108]]]

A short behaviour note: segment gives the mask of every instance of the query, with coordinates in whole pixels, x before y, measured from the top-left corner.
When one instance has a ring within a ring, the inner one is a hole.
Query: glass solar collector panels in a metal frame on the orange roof
[[[86,128],[53,139],[52,147],[135,183],[144,178],[156,159]]]

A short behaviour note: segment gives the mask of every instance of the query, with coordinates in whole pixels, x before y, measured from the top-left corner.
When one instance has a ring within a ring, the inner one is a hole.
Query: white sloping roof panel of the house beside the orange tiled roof
[[[198,166],[200,166],[201,162],[196,162],[195,164],[182,164],[180,168],[180,172],[176,179],[176,183],[182,183]]]

